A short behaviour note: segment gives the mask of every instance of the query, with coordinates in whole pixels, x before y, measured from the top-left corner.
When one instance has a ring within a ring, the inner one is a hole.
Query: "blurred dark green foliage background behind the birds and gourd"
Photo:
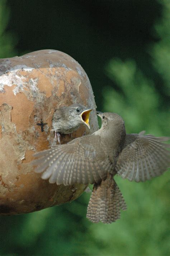
[[[62,50],[84,67],[98,110],[120,114],[128,133],[168,136],[170,1],[85,2],[1,0],[0,58]],[[128,209],[110,225],[86,219],[85,193],[1,216],[0,255],[169,256],[169,180],[169,172],[145,183],[116,177]]]

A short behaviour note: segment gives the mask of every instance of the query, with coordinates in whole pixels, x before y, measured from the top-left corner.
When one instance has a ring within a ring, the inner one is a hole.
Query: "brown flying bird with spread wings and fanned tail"
[[[35,172],[50,183],[93,184],[87,218],[92,222],[112,223],[126,209],[115,174],[136,182],[161,175],[170,165],[168,137],[126,134],[121,116],[99,113],[101,128],[91,135],[65,145],[38,152],[32,162]]]

